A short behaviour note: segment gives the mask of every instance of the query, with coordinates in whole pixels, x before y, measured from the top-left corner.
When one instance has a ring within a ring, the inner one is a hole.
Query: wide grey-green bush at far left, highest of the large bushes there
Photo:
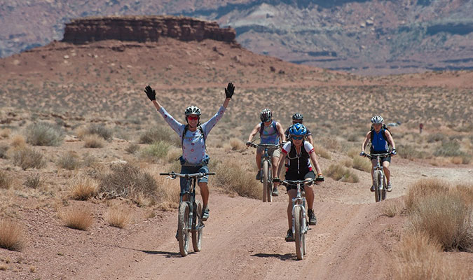
[[[50,123],[33,123],[26,129],[26,141],[34,146],[60,146],[64,134]]]

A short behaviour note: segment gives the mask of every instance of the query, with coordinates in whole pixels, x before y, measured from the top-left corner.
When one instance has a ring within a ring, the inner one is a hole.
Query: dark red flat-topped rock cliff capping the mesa
[[[67,43],[102,40],[157,42],[161,37],[181,41],[212,39],[235,43],[235,29],[220,28],[217,22],[174,16],[111,16],[78,18],[66,24]]]

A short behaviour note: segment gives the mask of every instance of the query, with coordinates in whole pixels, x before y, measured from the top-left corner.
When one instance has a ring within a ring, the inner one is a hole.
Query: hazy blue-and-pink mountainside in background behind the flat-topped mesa
[[[253,52],[327,69],[473,69],[473,0],[0,0],[0,56],[62,39],[72,18],[115,14],[214,20]]]

